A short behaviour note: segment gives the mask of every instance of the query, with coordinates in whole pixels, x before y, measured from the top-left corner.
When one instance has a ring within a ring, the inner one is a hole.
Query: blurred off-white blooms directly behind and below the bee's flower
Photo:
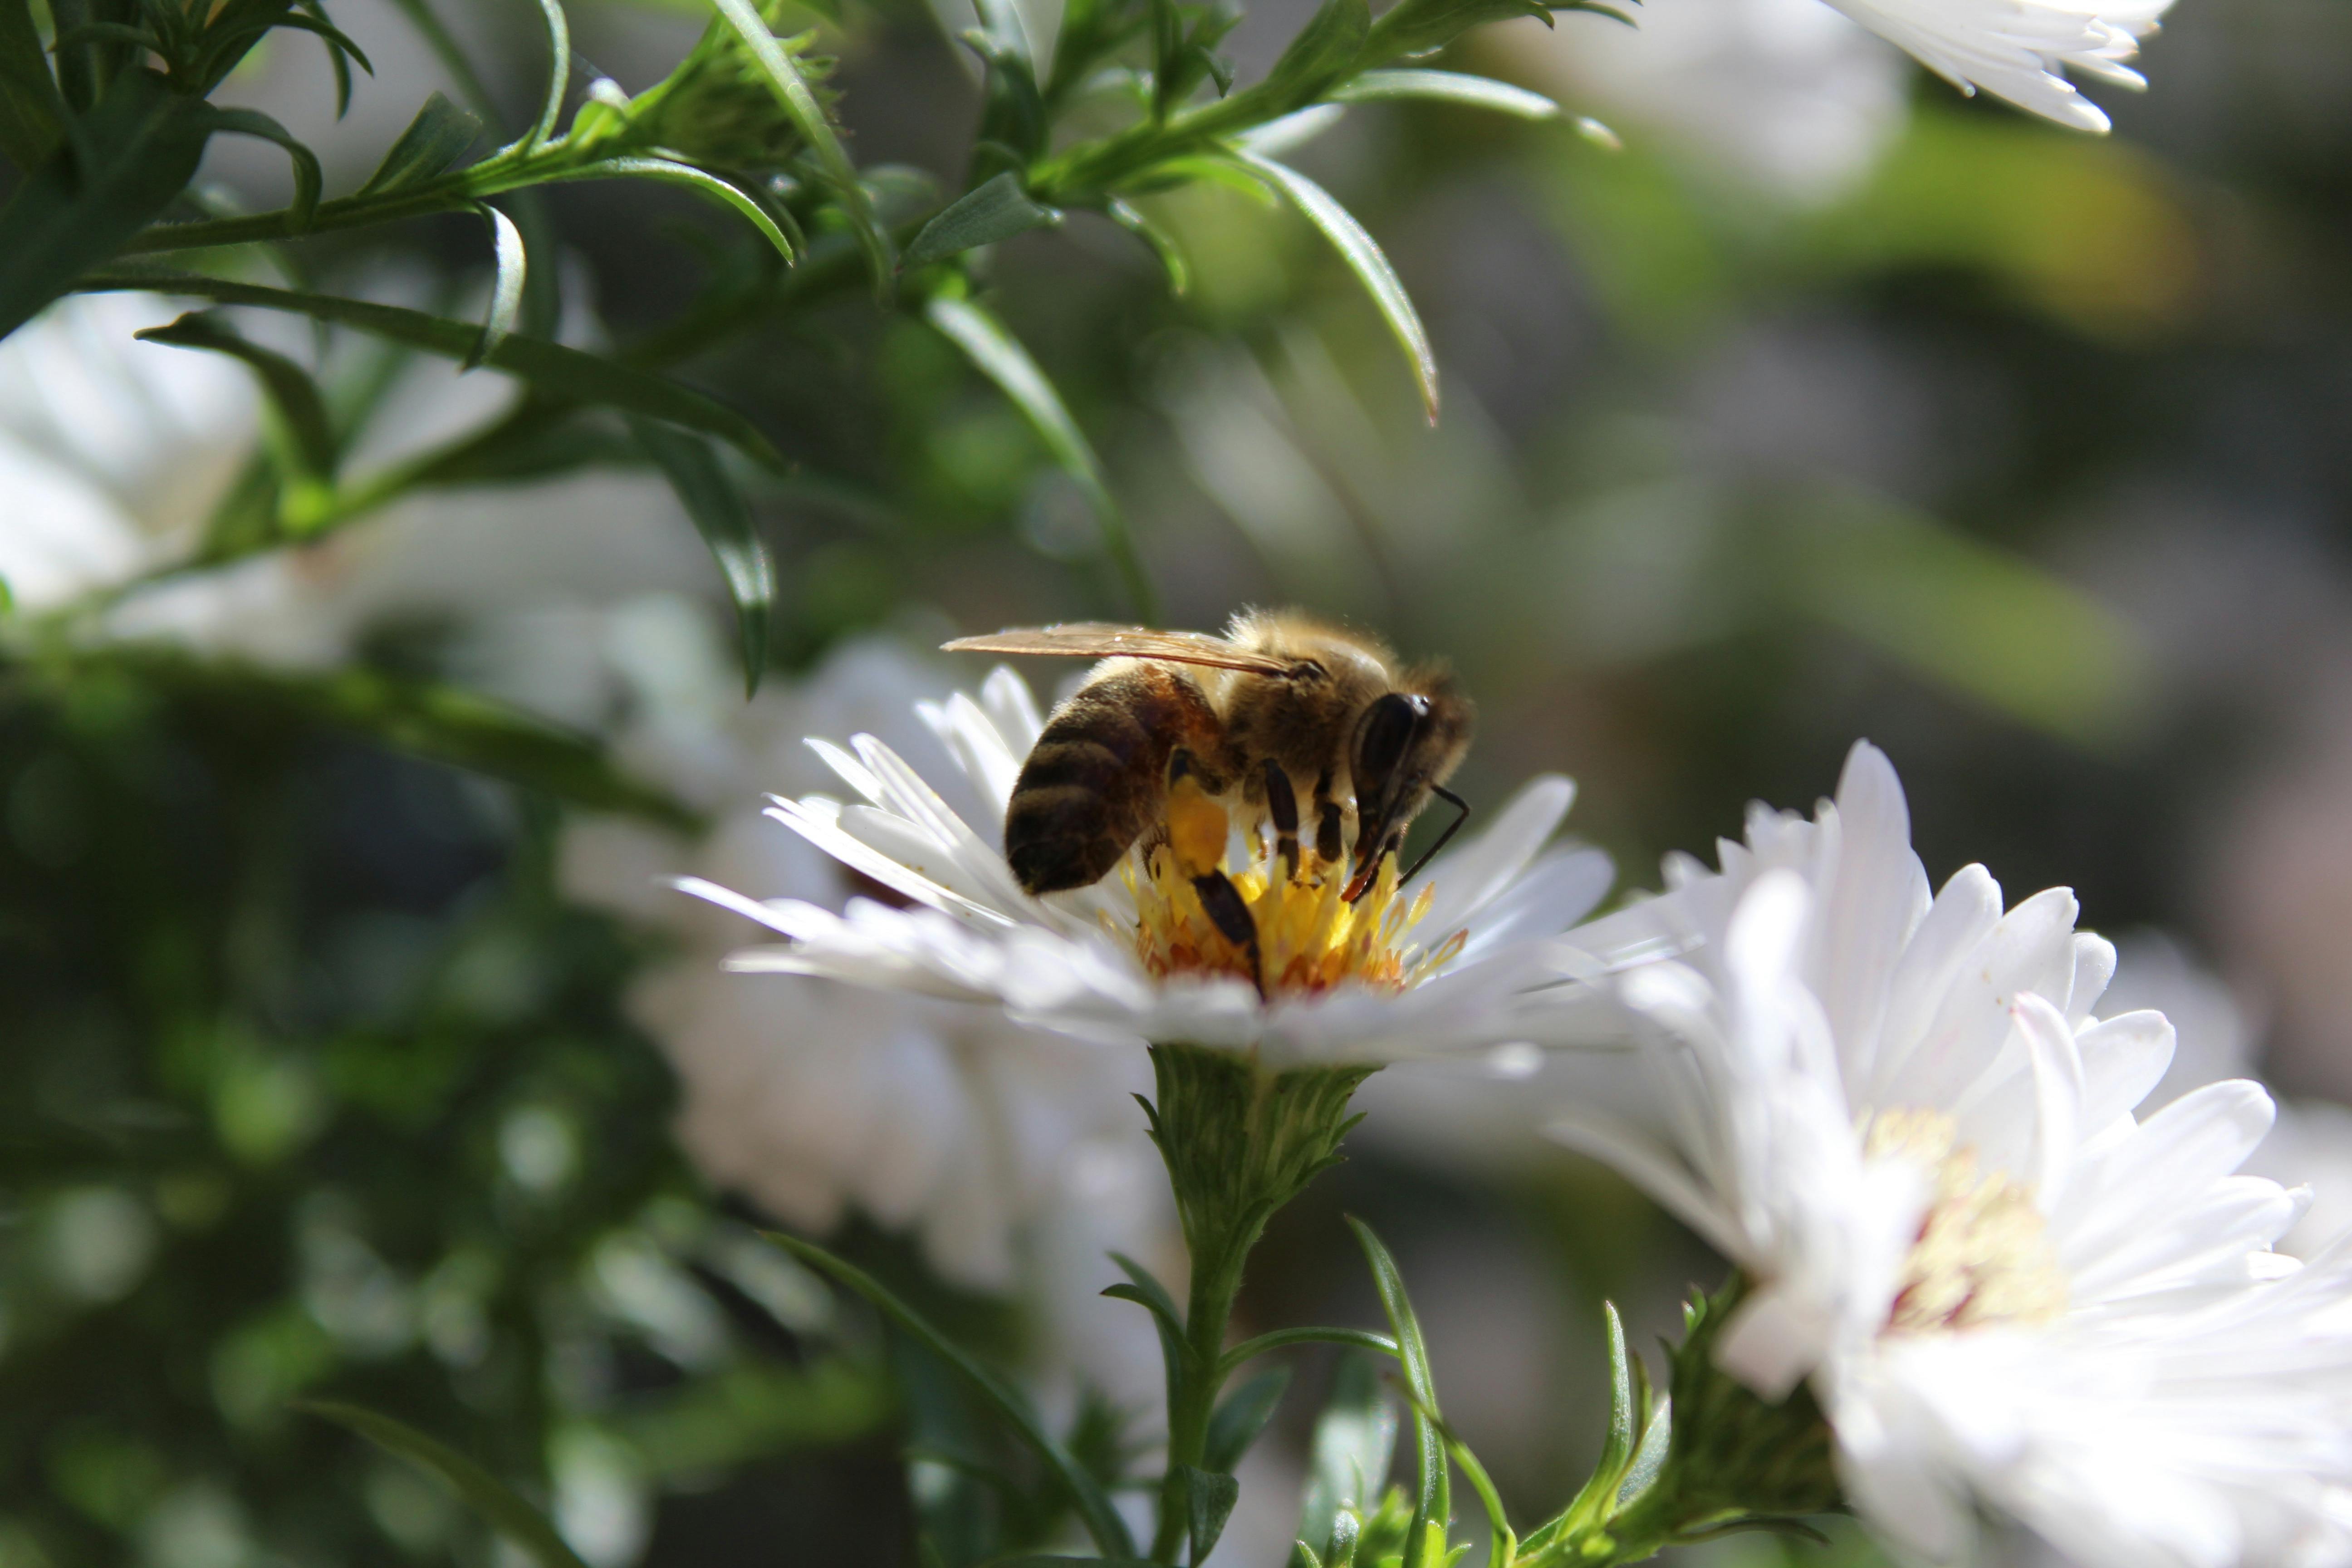
[[[619,741],[640,773],[680,797],[727,802],[699,844],[619,820],[564,832],[572,893],[659,922],[680,943],[630,997],[677,1067],[680,1143],[713,1182],[795,1227],[826,1232],[856,1211],[913,1232],[957,1284],[1028,1293],[1049,1363],[1145,1396],[1160,1375],[1148,1319],[1096,1300],[1122,1279],[1112,1248],[1162,1276],[1183,1272],[1160,1154],[1131,1098],[1150,1088],[1143,1056],[1028,1030],[995,1009],[729,976],[720,959],[741,926],[659,879],[694,870],[823,910],[875,891],[764,823],[757,788],[818,783],[823,764],[802,743],[811,729],[880,731],[946,771],[948,752],[917,717],[946,682],[887,642],[851,644],[748,708],[736,682],[706,628],[699,663],[649,682],[661,701]]]

